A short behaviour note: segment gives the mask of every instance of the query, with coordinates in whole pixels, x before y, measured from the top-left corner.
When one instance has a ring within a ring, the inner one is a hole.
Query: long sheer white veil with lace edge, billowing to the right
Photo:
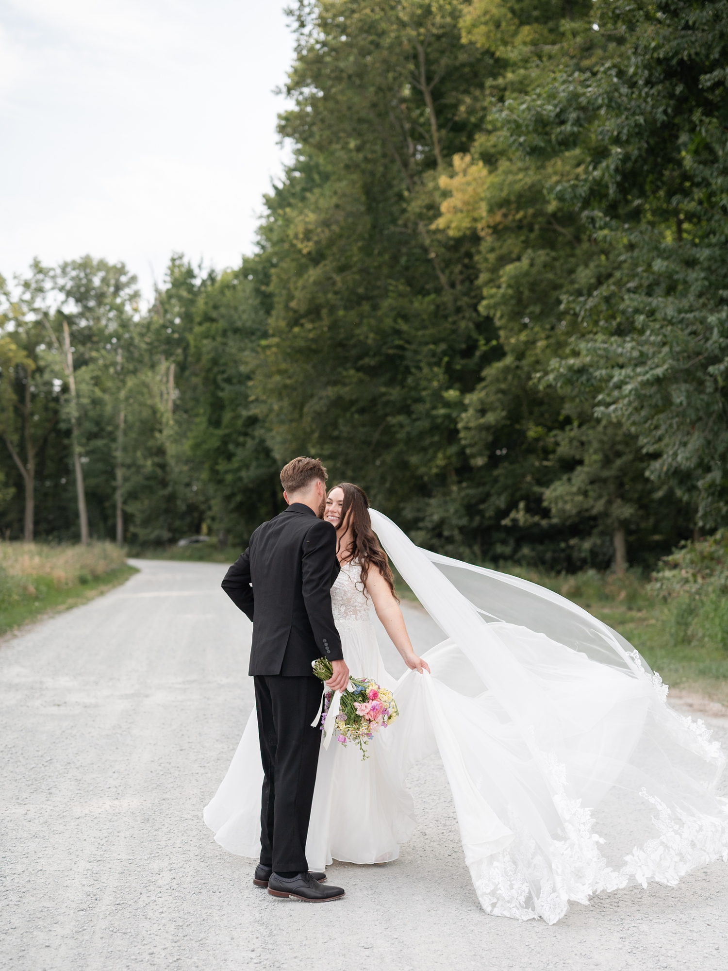
[[[371,514],[447,635],[419,684],[488,913],[553,922],[570,900],[674,885],[728,859],[720,746],[667,705],[624,638],[541,586],[420,550]]]

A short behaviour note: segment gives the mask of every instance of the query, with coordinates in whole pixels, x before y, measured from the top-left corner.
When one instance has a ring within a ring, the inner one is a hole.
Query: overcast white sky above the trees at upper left
[[[281,172],[283,0],[0,0],[0,274],[90,252],[149,294],[251,251]]]

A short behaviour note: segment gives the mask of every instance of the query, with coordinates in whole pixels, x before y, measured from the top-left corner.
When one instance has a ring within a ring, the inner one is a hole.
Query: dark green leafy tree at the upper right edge
[[[654,456],[648,476],[714,528],[728,515],[728,5],[595,10],[618,38],[609,63],[556,73],[507,119],[535,156],[581,154],[555,195],[611,253],[599,285],[569,288],[579,327],[553,377],[590,387],[597,415]]]

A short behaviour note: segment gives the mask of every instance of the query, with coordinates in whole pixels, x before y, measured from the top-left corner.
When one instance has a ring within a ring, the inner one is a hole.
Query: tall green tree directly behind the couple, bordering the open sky
[[[279,461],[320,454],[414,523],[456,485],[462,394],[487,353],[470,241],[432,231],[437,172],[477,131],[490,70],[458,3],[302,5],[281,135],[250,267],[270,332],[254,381]]]

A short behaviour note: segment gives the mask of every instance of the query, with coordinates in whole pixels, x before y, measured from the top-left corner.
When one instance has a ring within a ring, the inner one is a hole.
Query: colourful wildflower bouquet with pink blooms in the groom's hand
[[[328,681],[333,676],[331,661],[319,657],[312,661],[314,675],[321,681]],[[338,695],[338,711],[330,709]],[[349,678],[348,686],[343,692],[326,691],[321,713],[321,731],[324,738],[327,730],[333,732],[337,742],[346,746],[349,742],[358,745],[362,761],[367,758],[366,746],[374,738],[375,732],[386,728],[399,715],[397,702],[392,692],[380,687],[370,678]],[[333,719],[333,724],[331,721]],[[328,727],[327,727],[328,722]]]

